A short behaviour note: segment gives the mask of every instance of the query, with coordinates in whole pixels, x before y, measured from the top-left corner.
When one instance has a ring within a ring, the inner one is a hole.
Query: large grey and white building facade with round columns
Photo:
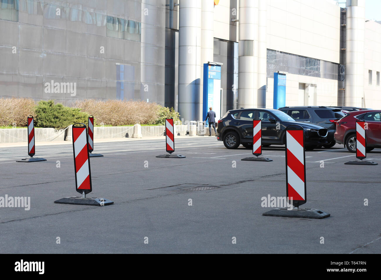
[[[214,61],[221,114],[272,108],[278,71],[286,106],[381,108],[381,24],[365,4],[0,0],[0,97],[144,100],[202,120],[203,64]]]

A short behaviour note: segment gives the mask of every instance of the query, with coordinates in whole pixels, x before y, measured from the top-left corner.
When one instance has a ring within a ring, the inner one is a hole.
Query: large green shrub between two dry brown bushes
[[[35,107],[35,126],[62,129],[74,123],[87,125],[88,114],[81,109],[54,104],[54,100],[40,101]]]

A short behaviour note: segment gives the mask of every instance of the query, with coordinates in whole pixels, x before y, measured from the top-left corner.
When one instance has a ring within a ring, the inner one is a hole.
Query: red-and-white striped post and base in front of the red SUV
[[[356,157],[360,160],[353,160],[344,164],[351,165],[378,165],[376,162],[363,160],[367,157],[367,130],[368,123],[364,120],[356,120]],[[352,136],[348,136],[352,137]]]

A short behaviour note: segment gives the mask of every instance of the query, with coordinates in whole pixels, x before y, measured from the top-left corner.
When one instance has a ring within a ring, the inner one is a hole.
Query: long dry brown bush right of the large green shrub
[[[95,99],[76,101],[74,107],[93,115],[96,125],[104,123],[111,126],[151,124],[157,119],[159,110],[156,103]]]

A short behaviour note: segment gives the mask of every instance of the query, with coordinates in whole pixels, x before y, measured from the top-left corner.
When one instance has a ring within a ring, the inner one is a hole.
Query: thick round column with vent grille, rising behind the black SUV
[[[239,1],[238,108],[257,105],[255,35],[258,32],[258,0]],[[257,24],[256,24],[257,23]]]

